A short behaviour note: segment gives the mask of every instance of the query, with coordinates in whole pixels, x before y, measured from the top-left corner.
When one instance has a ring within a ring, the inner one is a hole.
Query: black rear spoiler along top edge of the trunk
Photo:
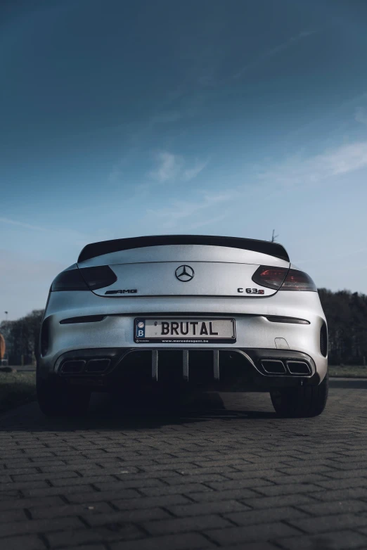
[[[145,246],[162,245],[210,245],[227,246],[229,248],[242,248],[253,252],[262,252],[289,262],[289,256],[283,245],[270,241],[257,241],[252,238],[241,237],[217,237],[212,235],[150,235],[146,237],[116,238],[113,241],[101,241],[84,246],[79,254],[78,262],[90,260],[110,252],[131,250],[131,248],[143,248]]]

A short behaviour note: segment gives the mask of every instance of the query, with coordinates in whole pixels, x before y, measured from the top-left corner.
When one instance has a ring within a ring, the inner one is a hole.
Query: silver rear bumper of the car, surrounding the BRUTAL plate
[[[210,369],[214,369],[213,362],[217,361],[214,359],[214,354],[217,352],[221,355],[219,357],[221,385],[224,385],[226,369],[230,369],[230,366],[226,365],[234,364],[233,362],[239,364],[236,368],[241,375],[240,378],[245,379],[247,373],[252,373],[251,380],[256,388],[259,386],[267,388],[269,385],[299,385],[302,379],[304,379],[303,383],[320,383],[326,376],[328,360],[321,353],[321,328],[326,326],[326,321],[317,293],[278,292],[271,298],[246,300],[237,298],[212,300],[196,297],[119,300],[118,298],[99,298],[93,293],[80,292],[75,293],[72,309],[62,301],[62,292],[52,294],[43,324],[45,330],[41,331],[42,338],[46,340],[46,349],[39,358],[39,373],[44,377],[63,376],[59,367],[64,357],[77,359],[87,351],[87,359],[98,359],[107,352],[110,353],[108,350],[112,350],[111,355],[108,355],[110,370],[94,373],[91,375],[93,380],[96,378],[112,380],[113,376],[117,376],[118,371],[124,370],[122,364],[127,362],[136,364],[136,372],[139,373],[139,361],[145,365],[141,366],[141,369],[146,369],[148,378],[151,378],[153,352],[158,354],[161,373],[166,369],[167,361],[171,360],[172,364],[177,364],[175,369],[181,372],[177,375],[180,383],[183,381],[181,380],[184,376],[183,362],[186,361],[184,357],[187,354],[188,383],[193,383],[195,380],[193,373],[200,371],[201,363],[207,365],[205,368],[209,369],[208,380],[210,381],[212,376]],[[236,342],[228,344],[209,342],[205,345],[136,343],[134,321],[144,316],[160,318],[187,316],[188,319],[233,318],[236,320]],[[306,323],[299,324],[294,322],[295,319],[302,319]],[[144,355],[143,352],[146,354]],[[175,352],[175,358],[166,360],[168,352]],[[226,357],[226,354],[231,353],[236,359],[229,360],[229,356]],[[144,359],[139,359],[139,354]],[[308,357],[307,363],[311,373],[307,376],[291,374],[286,361],[302,359],[304,357],[302,354]],[[107,359],[108,357],[106,356]],[[264,365],[259,362],[266,359],[283,361],[285,373],[271,375],[264,372]],[[84,361],[84,359],[80,360]],[[118,369],[117,364],[120,364]],[[131,367],[133,370],[134,368],[134,366]],[[167,369],[169,370],[168,367]],[[113,376],[112,371],[115,373]],[[76,376],[78,377],[79,374]],[[86,373],[83,377],[86,380]],[[143,380],[139,375],[137,378]],[[247,376],[246,380],[250,384],[248,378]],[[255,378],[257,382],[254,381]],[[162,382],[162,376],[159,377],[158,382]],[[219,388],[218,380],[214,380],[214,383]]]

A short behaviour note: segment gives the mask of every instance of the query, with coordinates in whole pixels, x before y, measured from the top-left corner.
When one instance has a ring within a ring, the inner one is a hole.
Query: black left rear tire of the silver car
[[[46,416],[81,416],[89,407],[90,390],[72,388],[37,376],[39,408]]]

